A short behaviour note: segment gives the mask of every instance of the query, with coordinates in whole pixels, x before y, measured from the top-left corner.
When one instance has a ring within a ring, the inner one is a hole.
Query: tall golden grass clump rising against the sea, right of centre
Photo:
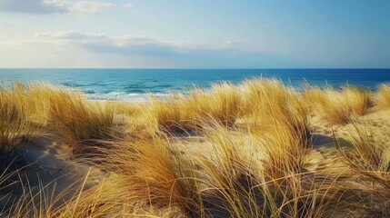
[[[252,124],[260,132],[273,128],[274,123],[287,122],[300,131],[308,122],[304,99],[295,89],[277,80],[257,79],[240,85],[243,90],[244,124]],[[303,124],[303,125],[302,125]]]

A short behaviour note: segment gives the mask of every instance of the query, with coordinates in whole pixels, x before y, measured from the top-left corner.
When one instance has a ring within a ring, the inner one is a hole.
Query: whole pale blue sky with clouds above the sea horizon
[[[389,68],[389,0],[0,0],[0,68]]]

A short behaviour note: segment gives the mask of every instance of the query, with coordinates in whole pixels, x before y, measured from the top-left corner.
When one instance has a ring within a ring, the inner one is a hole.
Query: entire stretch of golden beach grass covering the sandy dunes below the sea
[[[151,95],[145,103],[99,102],[80,90],[15,84],[0,90],[0,101],[2,155],[21,155],[19,148],[34,147],[45,133],[53,142],[41,145],[56,149],[44,153],[51,160],[91,168],[72,172],[79,182],[60,193],[45,191],[47,181],[62,179],[53,173],[45,182],[24,182],[19,195],[13,193],[20,201],[3,205],[15,179],[8,173],[24,169],[5,167],[1,215],[390,215],[386,84],[376,92],[348,85],[298,91],[257,78],[165,98]],[[62,146],[71,153],[59,156]],[[40,164],[45,158],[36,158],[32,164],[46,173]]]

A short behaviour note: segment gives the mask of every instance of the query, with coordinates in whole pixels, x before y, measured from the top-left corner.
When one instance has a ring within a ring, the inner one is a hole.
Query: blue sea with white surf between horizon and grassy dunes
[[[61,84],[81,89],[91,99],[145,100],[149,94],[185,93],[219,82],[240,83],[255,77],[278,78],[286,85],[341,87],[345,84],[375,90],[388,83],[390,69],[0,69],[0,81]]]

